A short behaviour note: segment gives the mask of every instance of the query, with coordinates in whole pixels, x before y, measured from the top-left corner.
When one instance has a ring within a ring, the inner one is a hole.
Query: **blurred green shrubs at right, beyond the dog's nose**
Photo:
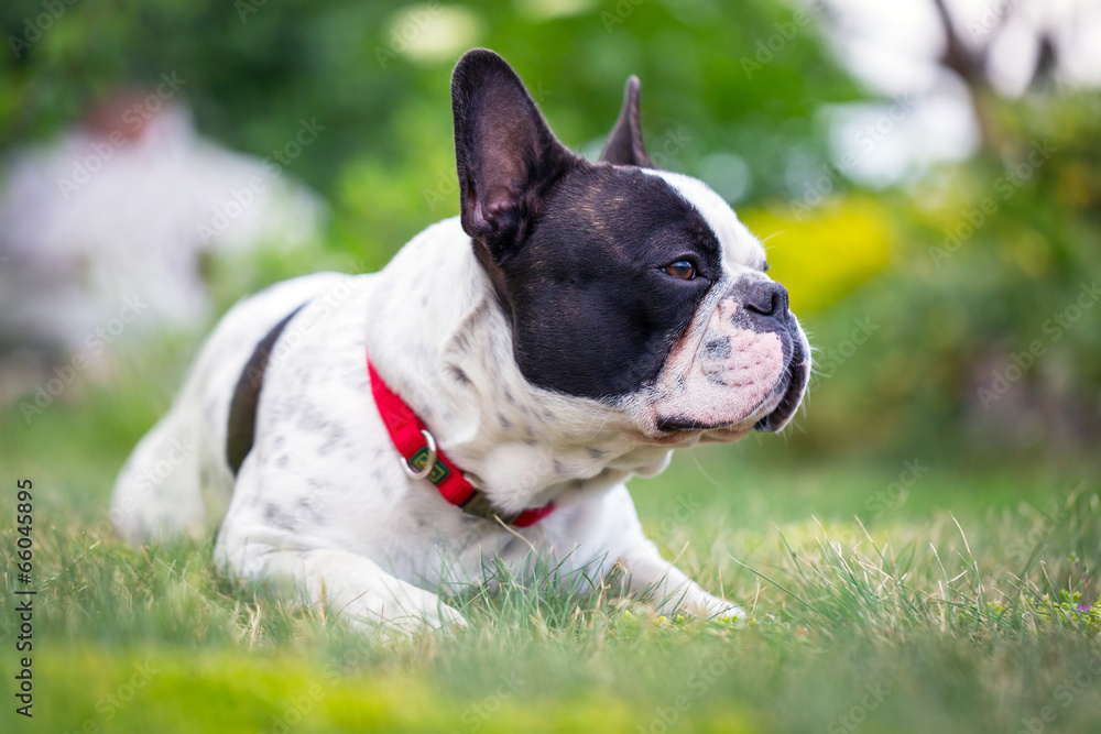
[[[1101,96],[985,105],[998,129],[979,155],[881,196],[894,262],[816,324],[832,369],[813,392],[805,448],[1095,456]],[[880,329],[846,350],[868,318]]]

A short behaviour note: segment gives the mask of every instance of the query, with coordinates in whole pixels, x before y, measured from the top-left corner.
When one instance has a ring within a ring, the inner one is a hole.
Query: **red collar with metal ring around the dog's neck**
[[[519,515],[505,517],[495,512],[486,500],[484,493],[471,484],[459,469],[451,463],[436,446],[436,439],[424,421],[417,417],[390,385],[374,371],[371,358],[367,358],[367,372],[371,377],[371,394],[379,408],[382,423],[386,426],[390,440],[402,456],[405,473],[413,479],[427,479],[436,485],[440,495],[456,507],[471,515],[492,519],[494,515],[516,527],[527,527],[539,522],[555,511],[552,502],[543,507],[525,510]],[[430,462],[430,463],[429,463]]]

